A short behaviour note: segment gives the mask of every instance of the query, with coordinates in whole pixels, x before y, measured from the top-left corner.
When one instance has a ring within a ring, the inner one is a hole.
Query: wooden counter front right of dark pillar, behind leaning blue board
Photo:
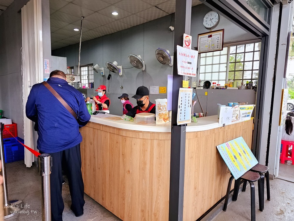
[[[183,220],[197,220],[225,196],[230,171],[216,146],[243,136],[251,147],[252,127],[253,120],[250,120],[186,134]]]

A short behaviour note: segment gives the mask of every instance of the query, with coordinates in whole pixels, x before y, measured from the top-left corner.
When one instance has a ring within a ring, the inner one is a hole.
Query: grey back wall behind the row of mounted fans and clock
[[[207,32],[207,29],[203,26],[203,17],[210,10],[204,4],[192,8],[191,35],[193,47],[197,46],[198,34]],[[145,60],[144,80],[142,71],[135,68],[123,69],[122,78],[112,73],[113,78],[109,95],[111,99],[109,110],[111,113],[116,115],[122,114],[122,105],[118,100],[118,96],[121,93],[133,95],[137,87],[141,85],[145,85],[148,88],[152,85],[167,85],[167,75],[172,74],[172,67],[161,65],[155,58],[155,50],[161,47],[173,52],[173,32],[168,30],[170,23],[171,15],[168,15],[136,27],[82,42],[81,65],[91,63],[95,65],[97,63],[100,66],[105,66],[105,62],[116,60],[118,65],[130,67],[131,64],[128,62],[128,55],[130,54],[141,55],[142,59]],[[255,39],[252,34],[246,33],[243,29],[221,17],[217,29],[223,28],[225,29],[225,43]],[[78,65],[78,44],[54,50],[52,55],[67,57],[67,66]],[[109,71],[106,69],[105,76],[102,77],[94,72],[96,74],[94,76],[94,87],[97,88],[98,85],[104,84],[108,90],[108,73]],[[120,88],[120,80],[123,89]],[[214,93],[217,95],[223,92]],[[151,101],[154,101],[156,98],[166,98],[166,94],[150,96]],[[135,99],[130,98],[130,100],[133,104],[136,104]]]

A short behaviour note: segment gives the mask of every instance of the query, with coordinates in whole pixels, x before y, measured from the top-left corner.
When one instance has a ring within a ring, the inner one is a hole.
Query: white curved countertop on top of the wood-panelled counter
[[[114,121],[111,119],[108,119],[107,117],[118,117],[121,116],[113,116],[113,115],[103,115],[103,118],[98,115],[91,115],[90,122],[93,123],[99,123],[106,126],[111,126],[115,128],[120,129],[126,129],[126,130],[133,130],[133,131],[148,131],[148,132],[171,132],[171,122],[164,123],[164,124],[156,124],[155,121],[152,124],[149,125],[140,125],[136,124],[134,122],[125,121],[125,120],[119,120]],[[197,123],[189,123],[187,126],[187,132],[195,132],[195,131],[206,131],[214,128],[218,128],[218,116],[208,116],[208,117],[202,117],[197,118]]]

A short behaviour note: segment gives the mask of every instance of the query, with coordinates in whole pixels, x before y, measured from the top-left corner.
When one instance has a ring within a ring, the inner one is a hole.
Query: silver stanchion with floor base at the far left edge
[[[7,191],[7,180],[6,180],[6,169],[5,169],[5,157],[4,157],[4,144],[3,144],[3,130],[4,130],[4,124],[0,123],[0,157],[1,157],[1,164],[2,164],[2,170],[1,175],[3,176],[3,198],[4,198],[4,219],[9,218],[11,216],[14,216],[18,214],[19,210],[23,209],[24,207],[23,202],[21,200],[13,200],[8,201],[8,191]]]

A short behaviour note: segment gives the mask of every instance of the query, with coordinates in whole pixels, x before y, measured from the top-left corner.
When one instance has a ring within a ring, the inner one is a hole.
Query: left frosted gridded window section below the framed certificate
[[[228,47],[222,51],[200,54],[199,79],[225,85],[227,78]]]

